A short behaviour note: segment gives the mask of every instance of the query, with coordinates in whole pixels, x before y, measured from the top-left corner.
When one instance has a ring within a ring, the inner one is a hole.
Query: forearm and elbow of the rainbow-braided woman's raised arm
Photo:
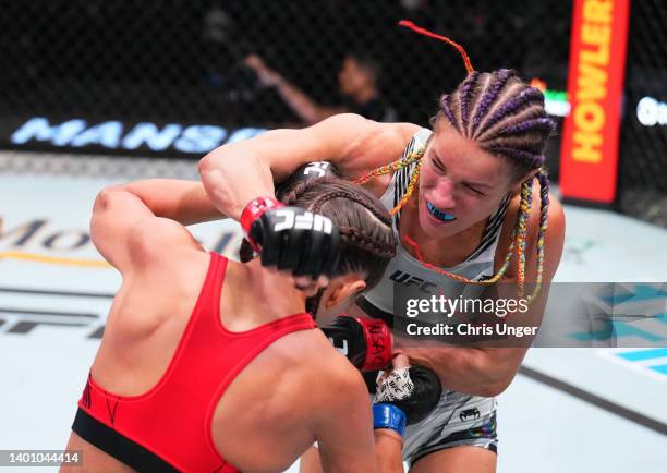
[[[213,204],[234,220],[253,198],[275,192],[268,162],[238,145],[221,146],[205,156],[199,174]]]

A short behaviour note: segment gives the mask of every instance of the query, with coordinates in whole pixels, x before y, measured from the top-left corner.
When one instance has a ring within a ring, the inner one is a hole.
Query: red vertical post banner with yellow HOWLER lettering
[[[618,175],[629,0],[577,0],[572,21],[560,190],[565,199],[613,205]]]

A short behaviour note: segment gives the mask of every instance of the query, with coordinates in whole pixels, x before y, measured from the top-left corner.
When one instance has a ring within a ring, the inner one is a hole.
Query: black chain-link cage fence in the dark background
[[[428,125],[437,98],[465,70],[454,49],[397,26],[401,19],[463,45],[477,70],[512,68],[534,81],[559,124],[567,110],[572,0],[0,0],[0,8],[2,141],[35,117],[52,128],[72,119],[105,123],[107,131],[121,123],[123,133],[148,122],[157,145],[135,154],[197,158],[206,147],[158,146],[163,128],[183,124],[183,135],[193,123],[301,125],[276,87],[245,64],[248,54],[315,102],[340,106],[341,64],[361,51],[379,65],[380,93],[396,119]],[[667,5],[633,1],[630,21],[620,207],[667,222],[667,56],[659,40]],[[53,129],[39,133],[45,130]],[[547,150],[556,182],[559,131]],[[51,136],[49,145],[60,140],[68,151],[133,154],[105,146],[118,142],[112,137],[96,138],[89,149],[59,132],[65,136]],[[44,142],[27,148],[53,149]]]

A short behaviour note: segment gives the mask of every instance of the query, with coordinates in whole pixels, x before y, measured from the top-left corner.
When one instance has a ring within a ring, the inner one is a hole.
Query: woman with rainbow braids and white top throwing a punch
[[[464,58],[469,74],[452,94],[440,97],[433,130],[341,114],[304,130],[267,132],[202,159],[208,195],[222,213],[239,219],[251,199],[271,195],[274,181],[305,162],[331,161],[391,209],[401,243],[380,283],[360,302],[363,312],[390,318],[393,280],[412,278],[451,299],[465,283],[530,283],[531,312],[541,317],[565,234],[561,206],[549,194],[542,167],[554,122],[546,117],[542,93],[513,71],[477,72]],[[322,166],[314,165],[313,172]],[[326,268],[329,263],[314,250],[317,241],[293,244],[289,231],[270,240],[280,243],[263,247],[265,264],[304,275],[301,284],[324,281],[311,276],[326,270],[301,271],[289,264],[308,246],[307,257]],[[411,362],[434,369],[445,388],[438,408],[407,430],[403,456],[412,472],[495,471],[494,397],[509,386],[526,350],[403,350]]]

